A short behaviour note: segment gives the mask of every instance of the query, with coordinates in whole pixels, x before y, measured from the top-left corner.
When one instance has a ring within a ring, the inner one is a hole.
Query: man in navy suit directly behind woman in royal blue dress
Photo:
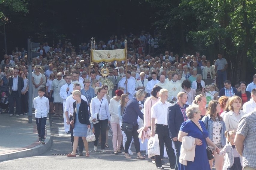
[[[188,105],[187,102],[187,93],[179,92],[177,95],[177,103],[172,104],[168,107],[167,113],[167,125],[170,132],[170,138],[174,142],[174,146],[176,149],[176,166],[175,170],[178,170],[179,166],[179,156],[180,156],[180,149],[181,149],[181,142],[178,141],[178,133],[181,127],[181,124],[186,121],[186,108]]]

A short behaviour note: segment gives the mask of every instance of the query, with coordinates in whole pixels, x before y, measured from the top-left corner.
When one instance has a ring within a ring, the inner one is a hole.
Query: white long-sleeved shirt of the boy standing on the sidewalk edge
[[[35,108],[36,118],[47,117],[47,114],[49,113],[49,110],[50,110],[48,98],[44,96],[43,97],[37,96],[36,98],[34,98],[34,108]]]

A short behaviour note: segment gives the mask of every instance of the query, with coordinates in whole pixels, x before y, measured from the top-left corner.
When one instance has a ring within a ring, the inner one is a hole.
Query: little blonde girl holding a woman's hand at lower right
[[[234,145],[234,139],[236,136],[236,131],[225,131],[225,136],[227,137],[228,143],[220,151],[220,155],[224,155],[225,162],[223,169],[227,170],[242,170],[242,157],[236,151]]]

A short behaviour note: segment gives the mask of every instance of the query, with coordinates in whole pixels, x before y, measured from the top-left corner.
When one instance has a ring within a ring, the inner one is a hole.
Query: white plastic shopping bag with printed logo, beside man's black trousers
[[[160,147],[157,134],[154,137],[151,136],[148,139],[148,158],[155,155],[160,155]]]

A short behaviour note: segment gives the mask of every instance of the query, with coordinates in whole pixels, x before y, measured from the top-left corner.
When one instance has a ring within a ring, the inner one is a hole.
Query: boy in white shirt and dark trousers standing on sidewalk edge
[[[34,98],[34,108],[35,108],[35,121],[37,125],[37,132],[39,141],[41,144],[45,144],[44,142],[44,134],[45,134],[45,125],[47,114],[49,113],[49,100],[44,97],[45,89],[44,87],[40,87],[38,89],[38,95]],[[45,108],[46,107],[46,108]]]

